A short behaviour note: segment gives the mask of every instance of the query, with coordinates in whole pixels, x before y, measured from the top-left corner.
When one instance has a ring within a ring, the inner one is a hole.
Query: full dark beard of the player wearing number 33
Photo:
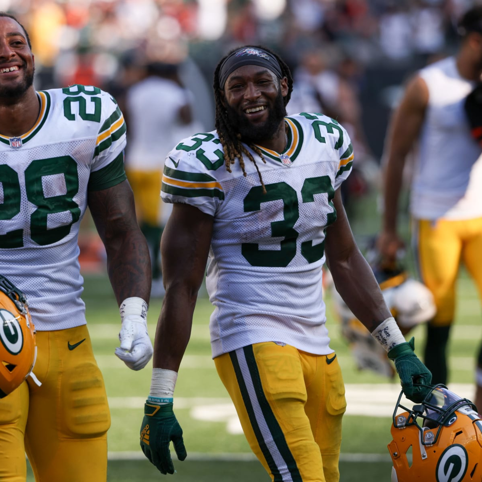
[[[233,109],[228,104],[226,111],[228,121],[235,131],[241,134],[241,140],[247,144],[259,144],[260,142],[272,139],[280,128],[280,123],[286,116],[286,107],[281,95],[281,89],[278,90],[278,95],[272,106],[268,106],[268,119],[262,125],[253,125],[249,119],[243,114],[239,114],[236,109]]]

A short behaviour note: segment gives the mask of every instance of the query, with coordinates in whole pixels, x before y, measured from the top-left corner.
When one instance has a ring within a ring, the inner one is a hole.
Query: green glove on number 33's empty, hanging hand
[[[182,428],[173,412],[173,404],[156,405],[147,401],[144,404],[144,419],[141,426],[141,449],[162,474],[174,474],[173,460],[169,451],[171,441],[177,458],[184,460],[187,453],[182,438]]]

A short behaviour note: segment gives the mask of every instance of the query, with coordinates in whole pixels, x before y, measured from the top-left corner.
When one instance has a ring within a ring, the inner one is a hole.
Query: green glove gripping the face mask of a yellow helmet
[[[412,402],[422,402],[432,390],[432,374],[414,353],[415,340],[401,343],[388,351],[388,358],[395,362],[405,397]]]

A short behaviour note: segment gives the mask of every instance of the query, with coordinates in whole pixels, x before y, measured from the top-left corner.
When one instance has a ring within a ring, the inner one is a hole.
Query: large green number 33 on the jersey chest
[[[283,201],[284,219],[271,222],[271,237],[284,238],[280,242],[281,250],[260,250],[258,243],[242,243],[241,254],[251,266],[285,268],[296,255],[296,239],[299,233],[294,226],[299,218],[298,197],[295,189],[285,182],[267,184],[265,187],[266,194],[263,194],[261,186],[250,189],[244,198],[244,212],[259,211],[263,202]],[[326,226],[328,226],[336,220],[335,207],[332,202],[335,191],[330,177],[321,176],[305,179],[301,188],[301,199],[304,203],[314,202],[314,195],[321,193],[328,194],[328,203],[333,209],[327,215]],[[301,243],[301,254],[308,263],[314,263],[323,257],[324,244],[324,241],[319,244],[313,244],[313,241],[304,241]]]

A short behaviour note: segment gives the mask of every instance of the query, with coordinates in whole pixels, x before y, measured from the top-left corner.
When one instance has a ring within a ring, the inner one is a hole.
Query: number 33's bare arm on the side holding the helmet
[[[353,314],[373,332],[391,316],[373,271],[355,243],[340,189],[335,192],[336,221],[326,231],[325,253],[336,291]]]

